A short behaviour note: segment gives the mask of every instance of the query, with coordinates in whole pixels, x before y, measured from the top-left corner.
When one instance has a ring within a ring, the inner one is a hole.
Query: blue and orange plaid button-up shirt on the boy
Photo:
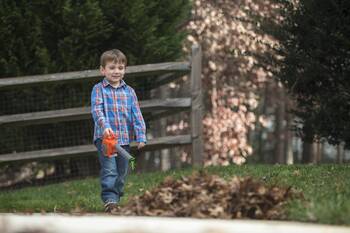
[[[106,128],[113,130],[119,145],[128,145],[135,139],[146,142],[146,126],[136,93],[124,80],[117,88],[106,79],[97,83],[91,92],[91,113],[95,123],[94,142],[102,138]]]

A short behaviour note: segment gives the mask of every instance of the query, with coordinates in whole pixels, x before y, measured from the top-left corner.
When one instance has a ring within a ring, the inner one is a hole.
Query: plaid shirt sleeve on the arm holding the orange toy
[[[102,129],[102,132],[111,128],[104,114],[102,89],[99,85],[95,85],[91,92],[91,114],[95,124]]]

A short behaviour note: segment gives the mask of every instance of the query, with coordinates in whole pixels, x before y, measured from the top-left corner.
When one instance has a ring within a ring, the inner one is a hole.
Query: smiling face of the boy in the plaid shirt
[[[101,66],[100,71],[112,86],[118,86],[125,74],[125,64],[108,61],[105,67]]]

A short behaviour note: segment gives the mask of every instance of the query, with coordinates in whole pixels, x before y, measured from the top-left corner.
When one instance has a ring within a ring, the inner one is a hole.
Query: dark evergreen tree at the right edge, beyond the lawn
[[[265,32],[279,39],[283,59],[270,64],[296,98],[300,132],[350,147],[350,1],[278,2],[284,20]]]

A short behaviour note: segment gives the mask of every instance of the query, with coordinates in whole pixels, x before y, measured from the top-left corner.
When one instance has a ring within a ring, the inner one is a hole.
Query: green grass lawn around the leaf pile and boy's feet
[[[131,174],[126,196],[143,193],[166,176],[189,175],[193,170]],[[292,186],[304,199],[291,200],[286,210],[290,220],[350,225],[350,165],[244,165],[206,168],[229,179],[253,176],[267,184]],[[0,193],[0,212],[102,212],[97,178]]]

